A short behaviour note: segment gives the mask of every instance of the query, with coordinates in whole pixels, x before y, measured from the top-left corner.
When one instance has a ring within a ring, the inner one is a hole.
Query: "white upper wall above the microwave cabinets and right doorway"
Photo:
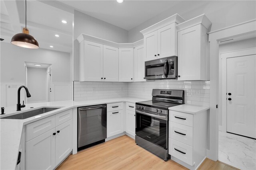
[[[162,12],[161,14],[145,21],[144,23],[130,29],[128,32],[128,41],[134,42],[143,38],[141,30],[157,23],[169,16],[179,14],[185,20],[189,20],[201,14],[206,16],[212,22],[211,31],[221,29],[230,25],[241,23],[256,18],[256,1],[180,1],[175,6]]]

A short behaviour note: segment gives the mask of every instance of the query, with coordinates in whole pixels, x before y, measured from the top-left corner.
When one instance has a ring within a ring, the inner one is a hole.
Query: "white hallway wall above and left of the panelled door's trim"
[[[256,38],[251,38],[251,39],[245,39],[242,41],[235,41],[232,43],[226,43],[222,44],[219,46],[219,54],[220,53],[225,53],[229,51],[236,51],[236,50],[241,50],[241,49],[248,49],[248,48],[253,48],[256,47]],[[219,55],[219,57],[221,57]],[[222,79],[222,60],[221,58],[219,59],[219,79]],[[222,82],[219,82],[219,90],[222,92]],[[226,92],[225,92],[226,93]],[[222,96],[219,96],[219,107],[222,108]],[[222,110],[219,109],[219,125],[222,126]],[[221,128],[220,128],[221,130]]]

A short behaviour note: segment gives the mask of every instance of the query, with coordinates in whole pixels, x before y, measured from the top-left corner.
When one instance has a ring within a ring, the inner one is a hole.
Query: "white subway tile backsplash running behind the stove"
[[[185,103],[210,105],[210,81],[150,80],[147,82],[74,82],[74,101],[105,98],[152,98],[152,89],[185,91]]]

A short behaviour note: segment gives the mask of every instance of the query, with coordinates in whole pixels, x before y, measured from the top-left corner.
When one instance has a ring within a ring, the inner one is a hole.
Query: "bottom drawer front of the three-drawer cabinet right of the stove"
[[[169,138],[169,154],[193,166],[193,147]]]

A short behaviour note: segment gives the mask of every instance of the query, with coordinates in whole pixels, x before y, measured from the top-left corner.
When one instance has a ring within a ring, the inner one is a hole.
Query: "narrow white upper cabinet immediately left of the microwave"
[[[144,62],[144,45],[140,45],[134,48],[133,74],[134,74],[134,82],[146,81],[145,62]]]

